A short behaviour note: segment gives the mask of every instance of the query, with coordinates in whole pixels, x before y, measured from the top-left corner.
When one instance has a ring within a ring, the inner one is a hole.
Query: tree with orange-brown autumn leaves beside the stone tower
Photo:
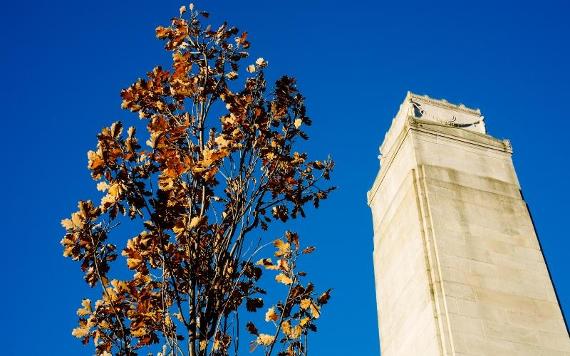
[[[318,207],[334,189],[318,185],[333,162],[295,151],[311,124],[295,80],[280,78],[268,94],[262,58],[241,80],[247,33],[227,23],[203,27],[205,18],[183,6],[170,26],[156,29],[172,52],[172,70],[158,66],[121,92],[122,107],[146,122],[147,147],[134,126],[126,133],[121,122],[104,128],[87,154],[100,204],[80,201],[62,221],[64,256],[102,290],[95,303],[83,300],[72,332],[92,341],[98,355],[237,353],[245,311],[265,311],[268,322],[245,324],[253,349],[306,354],[329,299],[330,290],[317,294],[297,268],[314,247],[301,248],[292,231],[274,241],[253,233],[267,235],[274,222]],[[140,230],[122,241],[129,278],[112,279],[112,265],[121,272],[113,263],[121,239],[111,233],[121,224]],[[273,260],[259,257],[268,245]],[[263,270],[286,291],[266,309]]]

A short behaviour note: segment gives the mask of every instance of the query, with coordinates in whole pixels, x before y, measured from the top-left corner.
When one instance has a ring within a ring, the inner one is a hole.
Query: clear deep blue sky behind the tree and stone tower
[[[252,59],[308,98],[309,150],[332,154],[339,190],[299,225],[310,270],[333,287],[313,355],[378,354],[366,191],[407,90],[481,108],[509,138],[562,306],[570,312],[570,21],[567,1],[200,1],[247,30]],[[6,1],[2,80],[3,355],[89,354],[71,336],[87,287],[61,256],[59,221],[95,187],[86,151],[137,118],[119,91],[164,61],[154,28],[178,1]]]

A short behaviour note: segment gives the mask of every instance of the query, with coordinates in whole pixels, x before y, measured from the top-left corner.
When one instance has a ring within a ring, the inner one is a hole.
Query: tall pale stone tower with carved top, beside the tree
[[[408,93],[368,192],[382,356],[570,355],[511,145]]]

